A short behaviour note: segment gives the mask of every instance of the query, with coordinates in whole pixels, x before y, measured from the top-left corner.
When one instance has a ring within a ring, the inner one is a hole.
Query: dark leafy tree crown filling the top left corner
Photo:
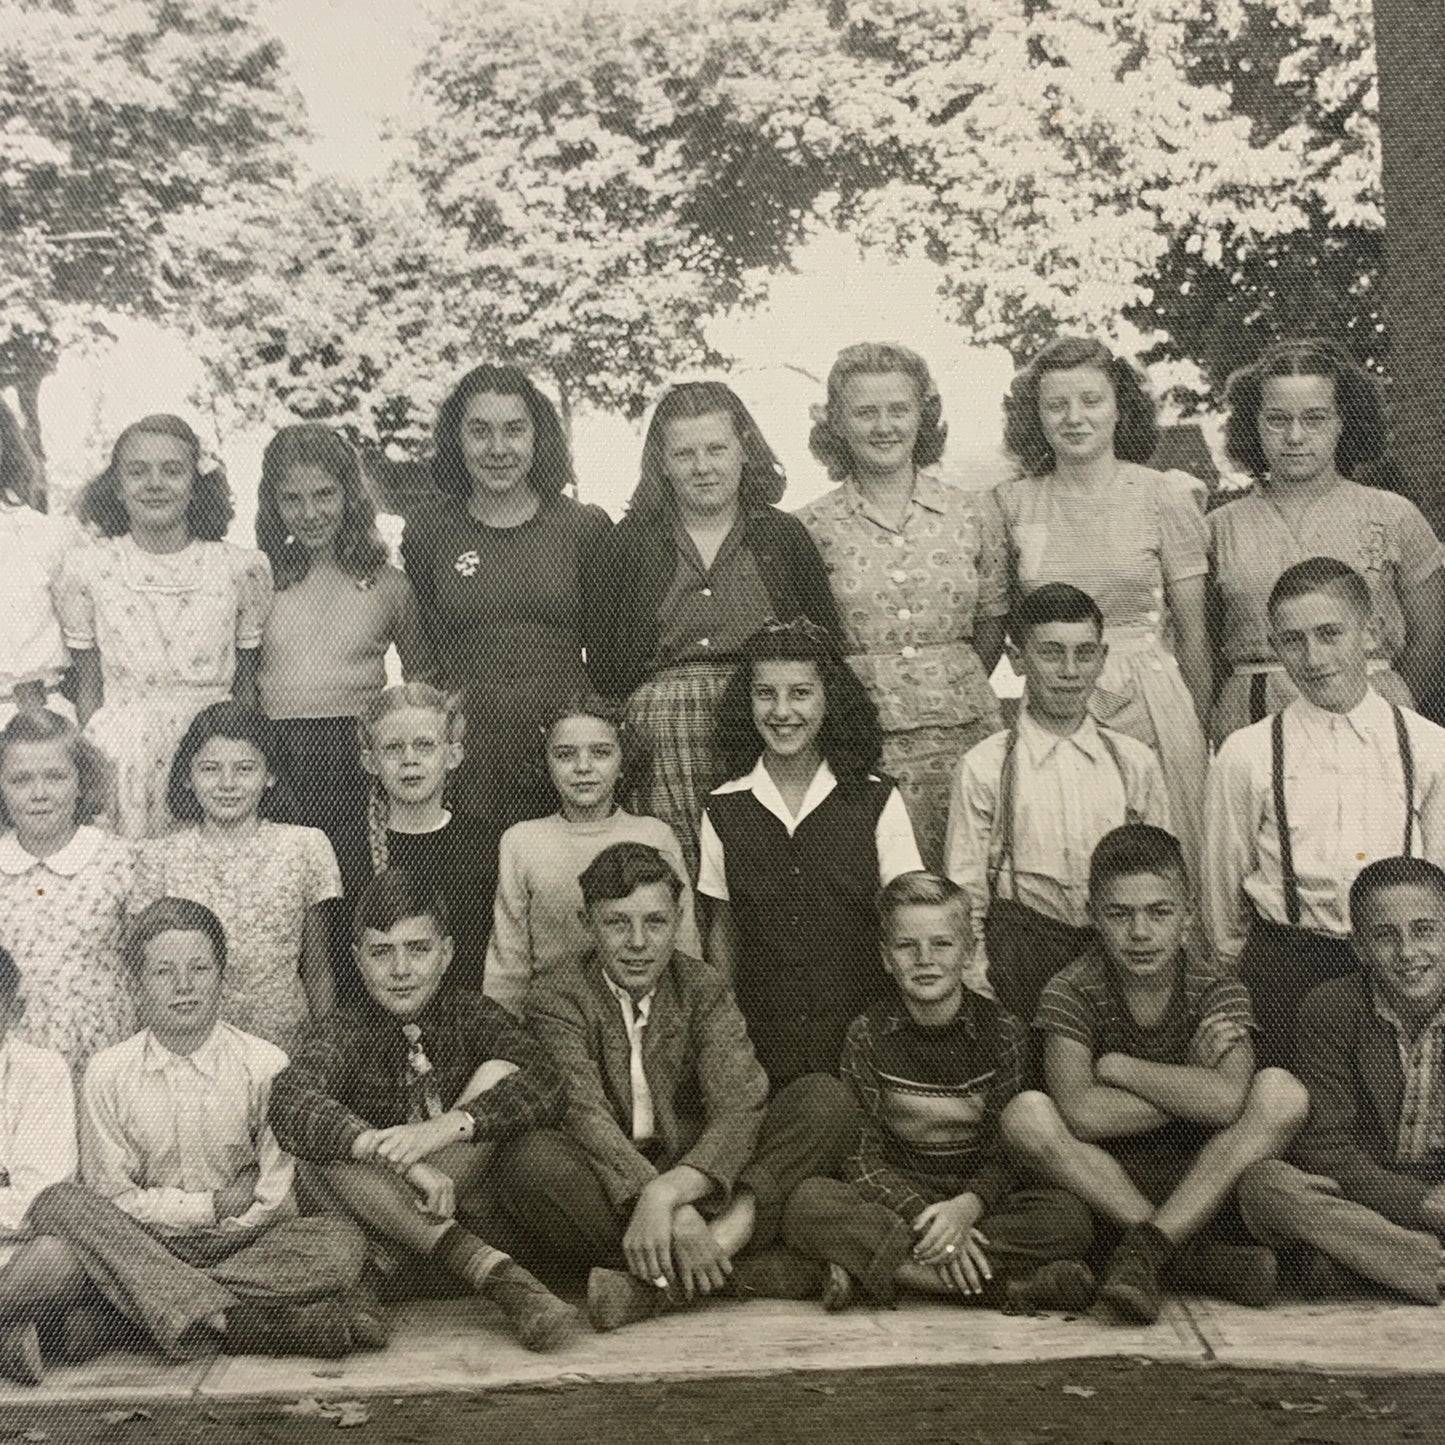
[[[283,175],[299,134],[256,0],[0,0],[0,387],[32,441],[61,351],[163,314],[166,218]]]

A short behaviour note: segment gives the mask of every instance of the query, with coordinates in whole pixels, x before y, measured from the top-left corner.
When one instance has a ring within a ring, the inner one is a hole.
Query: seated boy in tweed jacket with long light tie
[[[816,1295],[821,1267],[772,1246],[793,1188],[842,1157],[847,1090],[808,1074],[769,1103],[727,980],[676,951],[682,884],[656,848],[613,844],[578,881],[592,951],[527,1003],[568,1092],[566,1133],[512,1159],[539,1247],[591,1267],[597,1329],[724,1290]]]

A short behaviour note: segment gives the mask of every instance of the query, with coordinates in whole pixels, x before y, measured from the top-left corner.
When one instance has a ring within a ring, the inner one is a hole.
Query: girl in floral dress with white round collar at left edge
[[[0,733],[0,945],[25,978],[19,1032],[79,1078],[134,1032],[120,959],[131,847],[91,819],[108,767],[74,722],[42,708]]]

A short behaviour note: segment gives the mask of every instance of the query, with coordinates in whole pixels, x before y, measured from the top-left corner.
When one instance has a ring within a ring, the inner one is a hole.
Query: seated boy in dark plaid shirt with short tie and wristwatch
[[[556,1348],[577,1311],[497,1247],[517,1235],[499,1146],[559,1114],[556,1069],[501,1004],[442,988],[452,938],[435,886],[377,874],[354,952],[366,997],[276,1078],[276,1137],[308,1188],[500,1306],[529,1350]]]

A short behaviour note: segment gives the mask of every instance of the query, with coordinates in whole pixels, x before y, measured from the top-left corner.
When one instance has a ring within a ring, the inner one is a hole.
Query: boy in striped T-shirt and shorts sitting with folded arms
[[[1170,834],[1133,824],[1100,840],[1090,868],[1098,948],[1039,1003],[1048,1094],[1020,1094],[1003,1118],[1020,1160],[1124,1231],[1100,1298],[1144,1322],[1159,1315],[1160,1273],[1176,1253],[1185,1287],[1272,1298],[1269,1250],[1191,1241],[1251,1163],[1285,1152],[1308,1111],[1290,1074],[1254,1072],[1244,985],[1185,951],[1188,900]]]

